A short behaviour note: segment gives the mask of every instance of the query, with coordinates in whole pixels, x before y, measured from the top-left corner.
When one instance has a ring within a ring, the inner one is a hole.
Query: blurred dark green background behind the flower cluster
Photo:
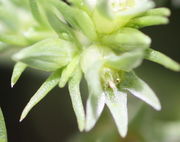
[[[180,62],[180,8],[170,1],[157,1],[172,11],[170,24],[142,29],[152,38],[152,48]],[[1,53],[1,57],[7,53]],[[144,61],[136,69],[157,93],[162,111],[157,112],[129,95],[129,131],[125,139],[118,135],[109,111],[103,112],[98,124],[88,133],[80,133],[67,88],[50,92],[19,123],[20,114],[47,74],[27,70],[17,85],[10,87],[13,62],[0,59],[0,106],[4,112],[9,142],[180,142],[180,74]],[[87,97],[82,82],[82,95]]]

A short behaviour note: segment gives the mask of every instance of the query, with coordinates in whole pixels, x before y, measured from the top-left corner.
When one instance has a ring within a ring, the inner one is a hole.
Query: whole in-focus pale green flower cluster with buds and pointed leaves
[[[31,30],[18,35],[31,42],[12,57],[17,62],[12,86],[27,67],[52,74],[31,98],[21,120],[55,86],[63,88],[66,84],[80,131],[91,130],[107,105],[120,135],[125,137],[128,93],[161,109],[155,93],[133,69],[147,59],[180,71],[178,63],[150,49],[151,39],[139,30],[167,24],[167,8],[154,8],[151,0],[69,0],[68,4],[29,0],[29,6]],[[36,37],[28,36],[32,31]],[[85,109],[80,94],[83,76],[89,91]]]

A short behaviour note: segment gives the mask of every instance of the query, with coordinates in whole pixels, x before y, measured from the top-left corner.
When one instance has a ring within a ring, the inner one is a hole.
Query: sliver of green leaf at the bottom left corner
[[[7,142],[6,126],[1,108],[0,108],[0,142]]]

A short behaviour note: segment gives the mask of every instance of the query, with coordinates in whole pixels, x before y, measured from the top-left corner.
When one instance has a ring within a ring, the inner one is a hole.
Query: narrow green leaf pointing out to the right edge
[[[164,67],[171,69],[173,71],[180,71],[180,64],[169,58],[168,56],[164,55],[153,49],[147,49],[145,58],[152,62],[158,63],[163,65]]]

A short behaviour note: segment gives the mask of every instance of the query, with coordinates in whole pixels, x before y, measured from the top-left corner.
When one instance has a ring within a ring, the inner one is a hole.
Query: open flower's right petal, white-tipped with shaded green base
[[[161,104],[153,90],[143,80],[138,78],[135,73],[124,73],[120,83],[120,89],[129,91],[132,95],[151,105],[154,109],[161,110]]]

